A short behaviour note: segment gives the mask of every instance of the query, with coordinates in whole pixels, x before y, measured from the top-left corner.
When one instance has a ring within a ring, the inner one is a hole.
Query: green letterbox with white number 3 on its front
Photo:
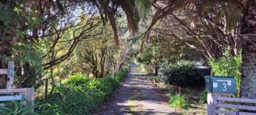
[[[236,93],[236,79],[231,76],[206,76],[206,91]]]

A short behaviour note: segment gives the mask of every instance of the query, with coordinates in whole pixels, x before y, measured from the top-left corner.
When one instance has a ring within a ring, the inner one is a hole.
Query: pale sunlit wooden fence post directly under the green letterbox
[[[215,115],[217,101],[214,99],[214,94],[211,92],[207,93],[207,114]]]

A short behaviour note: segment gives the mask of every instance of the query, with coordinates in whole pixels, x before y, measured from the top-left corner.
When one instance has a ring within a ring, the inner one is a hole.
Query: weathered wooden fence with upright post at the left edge
[[[34,88],[18,88],[13,87],[13,81],[15,76],[14,62],[8,63],[7,69],[0,69],[0,74],[7,74],[7,89],[0,89],[0,103],[12,100],[21,100],[26,98],[29,103],[33,103],[34,100]],[[25,102],[24,102],[25,103]],[[3,106],[3,104],[0,104]]]

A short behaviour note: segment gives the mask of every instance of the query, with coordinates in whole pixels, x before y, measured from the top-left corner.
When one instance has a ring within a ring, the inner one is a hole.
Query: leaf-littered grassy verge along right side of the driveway
[[[179,88],[176,85],[165,84],[164,82],[159,82],[155,80],[155,76],[149,74],[148,79],[151,79],[151,82],[154,82],[155,86],[165,93],[165,95],[178,95],[179,92],[181,95],[187,97],[189,106],[188,108],[181,108],[178,113],[184,115],[206,115],[207,104],[199,103],[199,94],[203,92],[204,87],[181,87]],[[166,100],[167,101],[167,100]]]

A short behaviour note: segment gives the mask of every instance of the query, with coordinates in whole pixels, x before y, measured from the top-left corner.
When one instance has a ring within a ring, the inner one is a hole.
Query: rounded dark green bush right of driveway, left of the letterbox
[[[203,82],[203,77],[197,74],[194,63],[187,60],[161,66],[159,76],[165,82],[179,86],[192,86]]]

